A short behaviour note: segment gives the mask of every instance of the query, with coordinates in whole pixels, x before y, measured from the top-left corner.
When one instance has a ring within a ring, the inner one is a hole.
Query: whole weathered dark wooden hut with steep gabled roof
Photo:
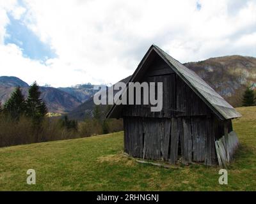
[[[194,71],[152,45],[129,82],[163,82],[163,110],[150,112],[148,105],[112,106],[107,117],[124,119],[127,154],[171,164],[180,158],[207,165],[223,158],[229,161],[237,146],[228,140],[233,133],[231,120],[241,115]],[[222,136],[226,136],[225,152],[220,155],[216,142]]]

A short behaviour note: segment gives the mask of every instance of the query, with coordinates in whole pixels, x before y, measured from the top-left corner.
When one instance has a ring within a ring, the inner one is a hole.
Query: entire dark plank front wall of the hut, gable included
[[[176,163],[217,162],[214,140],[224,135],[223,121],[160,59],[140,82],[163,82],[163,110],[149,105],[125,105],[124,150],[133,157]],[[143,93],[142,93],[143,94]],[[228,120],[228,131],[232,122]]]

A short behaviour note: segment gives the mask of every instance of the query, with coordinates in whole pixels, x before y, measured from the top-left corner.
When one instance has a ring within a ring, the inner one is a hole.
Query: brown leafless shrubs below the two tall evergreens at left
[[[35,128],[32,119],[22,115],[19,120],[0,114],[0,147],[53,140],[78,138],[77,131],[61,126],[59,119],[45,118]]]

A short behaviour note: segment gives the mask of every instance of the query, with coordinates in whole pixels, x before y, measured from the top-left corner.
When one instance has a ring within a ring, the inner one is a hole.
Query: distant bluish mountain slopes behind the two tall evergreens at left
[[[2,104],[10,98],[15,87],[20,86],[24,96],[28,96],[29,85],[17,77],[0,77],[0,101]],[[81,104],[76,97],[53,87],[40,87],[42,99],[45,101],[48,112],[65,113]]]

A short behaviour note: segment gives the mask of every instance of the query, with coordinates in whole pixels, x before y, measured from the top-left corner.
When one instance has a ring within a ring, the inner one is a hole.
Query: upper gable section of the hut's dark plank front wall
[[[141,100],[142,105],[125,105],[122,114],[124,116],[168,118],[192,115],[211,116],[212,111],[204,101],[164,63],[163,60],[161,62],[154,61],[147,75],[140,80],[140,82],[163,82],[163,110],[150,112],[150,105],[143,105],[143,100]],[[164,74],[158,75],[157,73]],[[141,91],[142,95],[143,90]]]

